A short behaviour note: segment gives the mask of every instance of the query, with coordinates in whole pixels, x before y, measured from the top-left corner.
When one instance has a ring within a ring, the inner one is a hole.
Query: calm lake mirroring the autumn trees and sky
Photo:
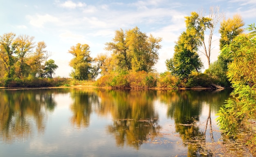
[[[216,122],[230,92],[3,89],[0,156],[250,156]]]

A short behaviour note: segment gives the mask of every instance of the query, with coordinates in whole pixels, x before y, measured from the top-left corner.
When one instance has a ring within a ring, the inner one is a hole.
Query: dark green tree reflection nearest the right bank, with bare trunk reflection
[[[229,96],[229,91],[162,91],[161,101],[168,105],[167,116],[175,121],[175,130],[180,134],[183,145],[188,146],[188,156],[203,155],[212,156],[213,153],[204,150],[206,131],[209,124],[211,142],[214,142],[211,111],[217,113],[220,106]],[[198,122],[202,114],[202,106],[209,105],[209,113],[204,131],[200,129]]]

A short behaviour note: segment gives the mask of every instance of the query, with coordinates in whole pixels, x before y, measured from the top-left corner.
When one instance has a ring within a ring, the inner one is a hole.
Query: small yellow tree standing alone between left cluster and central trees
[[[70,61],[70,66],[74,69],[70,74],[77,80],[92,79],[92,58],[90,57],[90,47],[87,44],[76,44],[68,51],[74,58]]]

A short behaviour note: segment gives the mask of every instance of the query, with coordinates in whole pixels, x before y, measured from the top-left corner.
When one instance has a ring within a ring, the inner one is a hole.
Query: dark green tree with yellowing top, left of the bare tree
[[[175,76],[188,78],[193,70],[200,70],[203,65],[196,53],[198,41],[192,35],[183,32],[174,48],[173,58],[166,60],[166,67]]]

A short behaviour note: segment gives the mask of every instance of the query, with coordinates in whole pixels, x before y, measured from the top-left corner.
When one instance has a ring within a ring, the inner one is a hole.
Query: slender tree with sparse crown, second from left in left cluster
[[[29,52],[32,52],[34,48],[34,37],[29,37],[28,35],[19,35],[16,39],[17,47],[16,47],[16,54],[18,56],[17,62],[17,75],[18,77],[24,77],[27,68],[26,57],[29,55]]]

